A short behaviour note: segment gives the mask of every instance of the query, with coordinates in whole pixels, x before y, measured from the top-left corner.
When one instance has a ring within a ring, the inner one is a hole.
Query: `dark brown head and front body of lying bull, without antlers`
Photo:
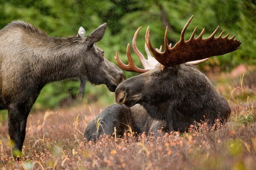
[[[117,103],[128,107],[140,104],[152,118],[166,121],[169,131],[184,132],[194,121],[207,121],[211,126],[215,119],[225,122],[230,115],[228,102],[192,65],[163,70],[158,64],[120,83],[115,94]]]

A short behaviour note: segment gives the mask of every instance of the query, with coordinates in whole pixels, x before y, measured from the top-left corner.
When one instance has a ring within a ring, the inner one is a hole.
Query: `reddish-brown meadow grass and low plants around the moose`
[[[87,123],[92,119],[99,127],[104,123],[95,119],[95,113],[104,109],[99,104],[32,113],[19,162],[12,158],[6,121],[1,121],[0,169],[255,170],[256,92],[251,92],[244,79],[246,75],[241,75],[239,88],[236,82],[218,85],[217,91],[228,99],[232,110],[226,124],[216,120],[208,127],[200,122],[186,133],[157,138],[145,134],[135,138],[128,127],[123,138],[114,133],[98,136],[96,143],[84,143]]]

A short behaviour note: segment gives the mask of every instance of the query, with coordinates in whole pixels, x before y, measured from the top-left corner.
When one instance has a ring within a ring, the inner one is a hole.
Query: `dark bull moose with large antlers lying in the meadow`
[[[230,115],[230,106],[228,102],[217,93],[209,79],[201,73],[193,65],[197,65],[206,61],[209,57],[218,56],[230,53],[239,48],[241,42],[234,40],[234,37],[228,38],[229,34],[221,37],[223,32],[215,38],[219,26],[215,31],[206,39],[203,39],[204,29],[201,34],[195,38],[195,32],[198,26],[194,29],[192,36],[189,40],[184,40],[184,33],[189,26],[193,16],[188,20],[180,34],[180,40],[174,47],[167,42],[167,28],[164,36],[164,48],[155,49],[151,45],[149,28],[145,34],[145,50],[148,59],[143,57],[143,54],[137,49],[136,38],[140,28],[136,31],[133,38],[133,49],[137,56],[140,58],[144,69],[138,68],[134,65],[129,51],[130,45],[127,45],[128,65],[125,65],[119,59],[116,53],[116,62],[119,67],[126,71],[134,71],[143,73],[135,77],[126,79],[120,83],[115,91],[115,101],[120,104],[119,106],[112,106],[117,115],[124,113],[125,110],[132,113],[121,114],[124,116],[134,116],[128,120],[143,119],[140,121],[145,127],[145,124],[154,125],[156,122],[151,121],[147,117],[158,122],[158,129],[162,126],[167,131],[186,131],[194,122],[206,120],[208,125],[211,126],[216,119],[220,119],[223,123]],[[151,56],[149,50],[154,57]],[[136,109],[139,104],[143,107],[147,114],[143,111]],[[125,106],[124,106],[125,105]],[[109,110],[109,108],[108,108]],[[140,112],[144,115],[141,117]],[[107,120],[108,111],[103,111],[99,118],[103,117],[102,121]],[[111,114],[113,115],[113,114]],[[112,122],[107,122],[106,125],[112,127],[120,127],[118,119],[123,119],[122,116],[115,116]],[[150,120],[150,121],[148,121]],[[120,120],[122,122],[123,120]],[[128,121],[129,122],[129,121]],[[130,121],[133,122],[133,121]],[[138,122],[138,120],[137,120]],[[127,122],[126,122],[127,124]],[[167,127],[166,127],[167,124]],[[133,124],[131,124],[132,126]],[[87,129],[95,133],[95,127],[92,123],[84,131],[84,137],[92,140],[93,137],[88,136]],[[138,125],[136,125],[138,127]],[[141,130],[150,132],[151,126],[147,129]],[[94,129],[94,130],[93,130]],[[127,129],[127,128],[126,128]],[[136,128],[134,128],[136,130]],[[99,130],[98,130],[99,131]],[[119,130],[124,131],[124,130]],[[154,131],[154,130],[153,130]],[[107,131],[108,134],[113,133],[113,129]],[[101,135],[101,133],[97,133]]]

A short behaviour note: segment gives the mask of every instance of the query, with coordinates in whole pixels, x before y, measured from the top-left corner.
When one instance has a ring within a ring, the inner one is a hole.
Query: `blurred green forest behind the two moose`
[[[105,57],[116,64],[116,51],[123,61],[126,59],[126,45],[131,43],[134,32],[143,26],[137,38],[137,46],[145,54],[145,30],[150,26],[151,42],[154,47],[163,44],[166,26],[169,26],[168,40],[175,43],[189,17],[194,15],[185,39],[188,40],[195,26],[197,35],[205,28],[204,38],[220,26],[224,34],[236,34],[242,41],[239,50],[223,57],[213,57],[200,65],[220,71],[230,71],[244,63],[256,64],[256,2],[254,0],[0,0],[0,28],[12,20],[24,20],[41,28],[52,37],[76,35],[80,26],[89,35],[102,23],[108,23],[106,34],[98,44],[105,51]],[[226,35],[225,34],[225,35]],[[231,37],[231,36],[230,36]],[[132,53],[135,57],[134,53]],[[136,60],[137,65],[140,62]],[[127,78],[134,73],[125,72]],[[65,80],[48,84],[41,91],[34,110],[54,108],[76,103],[79,82]],[[114,94],[105,85],[86,85],[82,102],[113,103]]]

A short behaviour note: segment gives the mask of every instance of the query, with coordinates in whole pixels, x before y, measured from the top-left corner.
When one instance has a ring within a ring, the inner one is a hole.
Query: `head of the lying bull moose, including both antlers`
[[[212,35],[206,39],[202,38],[204,29],[197,38],[194,37],[198,28],[197,26],[190,39],[186,41],[184,40],[184,33],[192,18],[193,16],[184,26],[180,34],[180,40],[174,47],[172,47],[172,44],[168,45],[166,28],[164,37],[165,51],[163,52],[161,51],[162,46],[160,49],[155,49],[151,45],[150,31],[148,28],[145,34],[145,51],[148,59],[145,59],[143,54],[141,54],[136,47],[136,38],[141,27],[138,28],[134,34],[132,46],[145,69],[138,68],[134,65],[129,51],[129,44],[127,45],[126,51],[128,65],[122,63],[118,53],[116,53],[116,62],[120,68],[126,71],[143,73],[139,76],[127,79],[116,88],[115,100],[117,103],[125,104],[129,107],[137,103],[155,105],[163,103],[169,98],[172,98],[173,102],[175,102],[175,99],[182,100],[182,98],[186,98],[187,96],[182,96],[183,94],[181,93],[188,88],[193,88],[195,94],[197,91],[207,90],[209,83],[205,83],[204,74],[201,74],[198,70],[191,70],[188,68],[191,68],[191,65],[197,65],[206,61],[209,57],[235,51],[239,48],[241,42],[237,39],[234,40],[235,36],[228,38],[229,34],[222,38],[221,36],[224,31],[215,38],[214,36],[218,31],[219,26],[215,29]],[[154,57],[151,57],[148,48]],[[177,93],[177,91],[180,93]]]

